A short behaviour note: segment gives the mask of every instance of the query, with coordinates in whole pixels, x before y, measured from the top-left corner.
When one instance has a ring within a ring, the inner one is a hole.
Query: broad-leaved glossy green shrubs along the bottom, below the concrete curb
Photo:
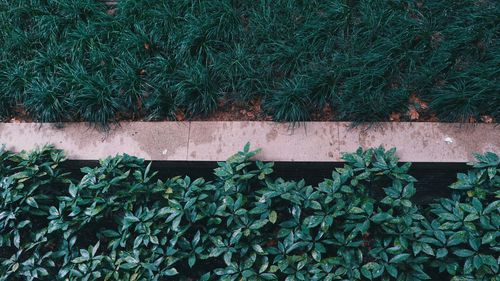
[[[256,153],[162,181],[129,155],[77,179],[59,150],[2,150],[0,280],[499,280],[496,154],[418,205],[394,149],[346,154],[317,186]]]

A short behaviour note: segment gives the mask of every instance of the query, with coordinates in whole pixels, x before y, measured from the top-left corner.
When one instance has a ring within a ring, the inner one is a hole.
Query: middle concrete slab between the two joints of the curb
[[[338,161],[337,123],[192,122],[188,160],[225,160],[250,142],[266,161]]]

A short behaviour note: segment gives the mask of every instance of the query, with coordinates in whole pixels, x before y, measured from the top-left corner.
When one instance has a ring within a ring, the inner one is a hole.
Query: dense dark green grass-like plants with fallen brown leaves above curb
[[[0,116],[500,117],[498,1],[117,2],[1,0]]]

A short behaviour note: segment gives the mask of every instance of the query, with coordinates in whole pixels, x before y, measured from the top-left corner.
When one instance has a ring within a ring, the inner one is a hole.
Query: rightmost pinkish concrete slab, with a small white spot
[[[473,152],[500,153],[500,126],[494,124],[381,123],[381,126],[340,127],[340,151],[359,146],[396,147],[403,161],[468,162]]]

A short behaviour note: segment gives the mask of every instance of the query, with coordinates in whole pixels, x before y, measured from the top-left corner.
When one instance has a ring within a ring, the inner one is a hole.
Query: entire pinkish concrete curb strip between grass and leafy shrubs
[[[500,153],[495,124],[377,123],[351,128],[345,122],[124,122],[109,133],[84,123],[0,123],[0,144],[29,150],[46,143],[70,159],[128,153],[148,160],[222,161],[250,142],[266,161],[341,161],[358,146],[397,147],[401,161],[469,162],[473,152]]]

